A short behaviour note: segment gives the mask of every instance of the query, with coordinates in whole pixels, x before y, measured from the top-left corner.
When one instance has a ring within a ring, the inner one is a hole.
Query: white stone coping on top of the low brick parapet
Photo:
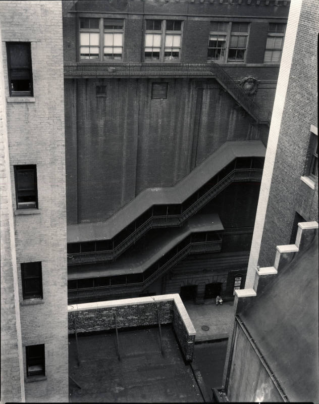
[[[78,305],[68,305],[68,312],[71,313],[90,309],[107,309],[121,306],[145,305],[148,303],[152,304],[154,302],[163,302],[163,301],[174,301],[174,305],[186,327],[188,335],[195,336],[196,335],[195,328],[187,313],[187,310],[185,309],[183,301],[178,293],[163,294],[158,296],[134,297],[129,299],[95,301],[90,303],[81,303]]]

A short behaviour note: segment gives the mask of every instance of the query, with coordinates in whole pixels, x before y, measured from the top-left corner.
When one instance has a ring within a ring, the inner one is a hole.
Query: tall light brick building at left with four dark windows
[[[1,2],[1,398],[68,400],[61,2]]]

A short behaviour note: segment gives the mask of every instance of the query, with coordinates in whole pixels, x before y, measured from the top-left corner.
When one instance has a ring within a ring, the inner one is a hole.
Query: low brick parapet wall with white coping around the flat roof
[[[157,310],[161,324],[173,324],[184,359],[192,361],[196,331],[177,293],[70,305],[69,334],[75,332],[74,321],[78,333],[115,329],[115,316],[118,328],[156,325]]]

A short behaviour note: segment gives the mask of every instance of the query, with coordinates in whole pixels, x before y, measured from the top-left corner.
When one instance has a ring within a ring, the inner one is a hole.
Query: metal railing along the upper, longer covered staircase
[[[114,247],[113,250],[70,254],[68,255],[68,264],[74,265],[88,262],[112,261],[148,230],[158,227],[180,226],[186,219],[198,212],[209,200],[225,189],[232,181],[260,180],[261,174],[262,169],[234,169],[198,198],[188,209],[182,212],[181,215],[151,216]]]

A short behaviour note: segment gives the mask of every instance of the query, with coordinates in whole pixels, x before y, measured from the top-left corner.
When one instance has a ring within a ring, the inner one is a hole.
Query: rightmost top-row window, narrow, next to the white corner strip
[[[286,24],[270,23],[263,63],[280,63],[285,39]]]

